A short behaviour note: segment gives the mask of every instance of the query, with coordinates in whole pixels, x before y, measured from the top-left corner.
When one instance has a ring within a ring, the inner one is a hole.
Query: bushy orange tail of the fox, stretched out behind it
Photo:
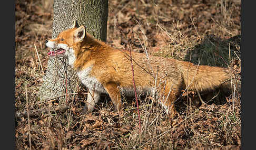
[[[198,66],[185,61],[179,61],[178,65],[189,91],[211,91],[221,88],[231,92],[231,80],[234,83],[234,79],[228,68]]]

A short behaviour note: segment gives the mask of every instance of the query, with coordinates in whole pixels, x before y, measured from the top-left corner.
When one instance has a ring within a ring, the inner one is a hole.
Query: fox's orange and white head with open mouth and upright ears
[[[62,31],[55,39],[48,39],[45,45],[51,48],[47,53],[50,57],[74,57],[74,49],[77,44],[86,38],[85,27],[78,26],[75,20],[71,29]]]

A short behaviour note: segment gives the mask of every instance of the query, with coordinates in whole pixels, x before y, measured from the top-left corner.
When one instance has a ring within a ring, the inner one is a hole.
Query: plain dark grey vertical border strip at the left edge
[[[1,5],[1,149],[15,148],[15,3]]]

